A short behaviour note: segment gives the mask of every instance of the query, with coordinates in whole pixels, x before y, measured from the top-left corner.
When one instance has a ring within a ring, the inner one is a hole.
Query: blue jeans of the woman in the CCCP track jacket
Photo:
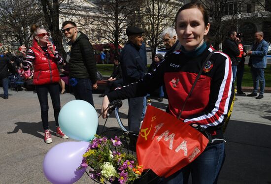
[[[192,184],[216,184],[225,160],[224,142],[208,145],[192,163],[166,178],[163,184],[187,184],[189,175]]]

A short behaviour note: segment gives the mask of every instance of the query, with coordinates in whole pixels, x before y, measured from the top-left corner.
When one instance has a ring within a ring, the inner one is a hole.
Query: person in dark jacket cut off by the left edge
[[[4,99],[8,99],[8,75],[9,72],[15,73],[14,66],[9,62],[6,56],[0,56],[0,79],[4,90]]]

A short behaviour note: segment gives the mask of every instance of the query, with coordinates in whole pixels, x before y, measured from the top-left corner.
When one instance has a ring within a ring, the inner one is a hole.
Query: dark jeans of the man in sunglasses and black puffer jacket
[[[73,92],[76,100],[85,100],[94,107],[92,97],[92,82],[90,79],[78,79],[77,85],[73,87]],[[95,108],[95,107],[94,107]]]

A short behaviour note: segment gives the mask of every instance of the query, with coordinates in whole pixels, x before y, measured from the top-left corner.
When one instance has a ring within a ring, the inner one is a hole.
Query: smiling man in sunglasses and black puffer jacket
[[[92,88],[97,89],[96,61],[94,60],[93,47],[87,35],[77,30],[76,24],[65,21],[62,32],[70,39],[71,46],[69,59],[70,85],[73,87],[76,99],[85,100],[94,107]]]

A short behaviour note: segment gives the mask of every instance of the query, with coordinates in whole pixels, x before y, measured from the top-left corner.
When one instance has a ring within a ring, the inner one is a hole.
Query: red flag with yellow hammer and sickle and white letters
[[[136,142],[138,164],[167,178],[195,160],[207,144],[201,132],[149,105]]]

